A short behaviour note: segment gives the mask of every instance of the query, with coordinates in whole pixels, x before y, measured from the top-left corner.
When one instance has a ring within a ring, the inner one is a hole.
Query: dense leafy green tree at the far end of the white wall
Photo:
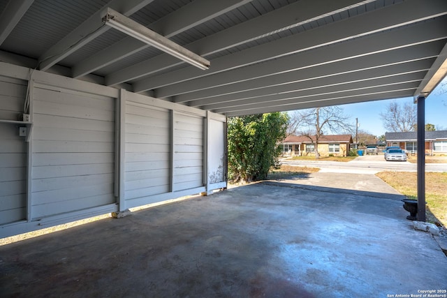
[[[228,178],[266,179],[271,167],[279,167],[279,142],[286,137],[287,124],[287,114],[279,112],[228,119]]]

